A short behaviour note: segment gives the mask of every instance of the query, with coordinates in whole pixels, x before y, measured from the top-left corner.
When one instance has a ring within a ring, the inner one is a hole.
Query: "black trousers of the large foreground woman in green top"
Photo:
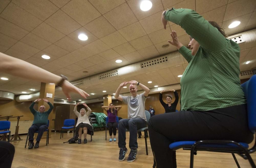
[[[232,140],[251,143],[247,106],[238,105],[210,111],[179,111],[159,114],[148,123],[153,167],[177,167],[175,151],[169,145],[175,141]]]

